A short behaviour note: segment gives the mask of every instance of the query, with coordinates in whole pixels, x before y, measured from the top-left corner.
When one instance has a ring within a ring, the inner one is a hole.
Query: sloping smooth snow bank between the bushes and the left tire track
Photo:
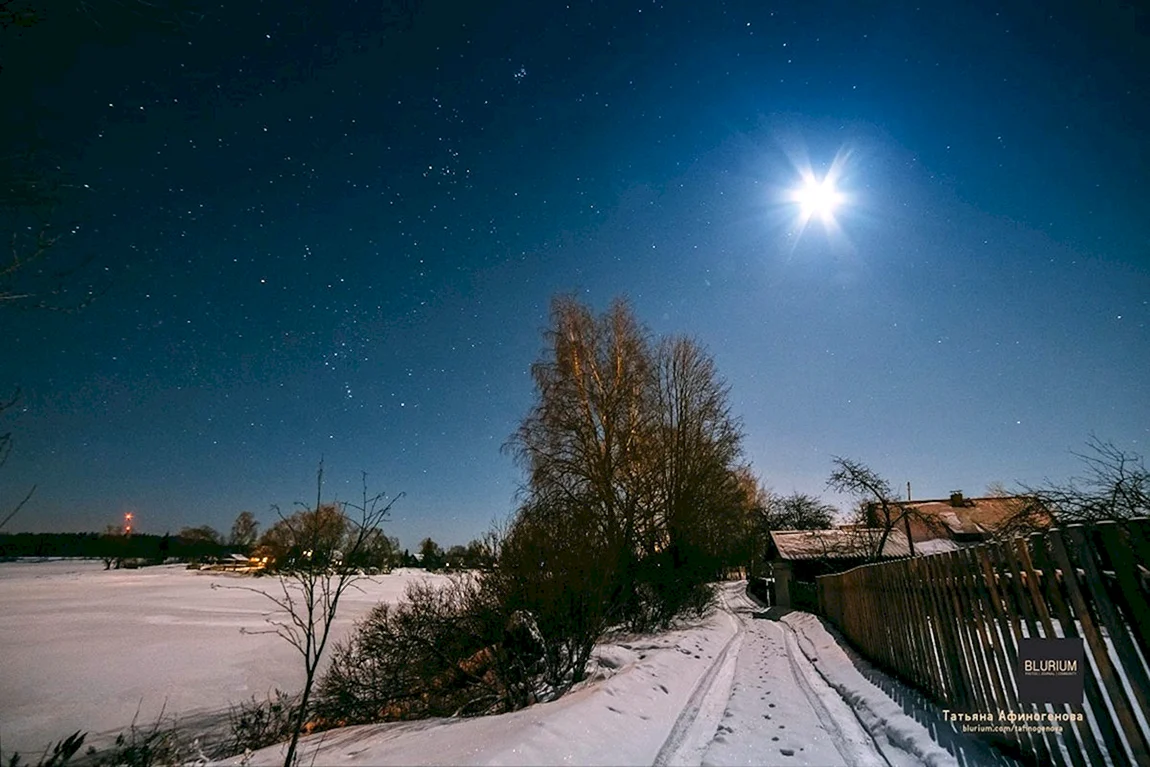
[[[597,647],[589,678],[553,703],[497,716],[366,724],[300,741],[317,765],[650,765],[734,636],[726,613]],[[247,764],[283,764],[284,746]],[[239,765],[240,758],[225,760]]]

